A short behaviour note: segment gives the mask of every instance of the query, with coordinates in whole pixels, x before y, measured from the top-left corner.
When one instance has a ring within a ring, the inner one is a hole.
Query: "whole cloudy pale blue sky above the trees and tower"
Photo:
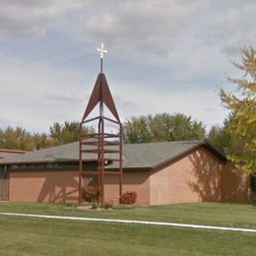
[[[0,127],[47,132],[80,120],[99,70],[122,120],[182,112],[209,129],[227,115],[220,88],[255,46],[256,2],[0,0]]]

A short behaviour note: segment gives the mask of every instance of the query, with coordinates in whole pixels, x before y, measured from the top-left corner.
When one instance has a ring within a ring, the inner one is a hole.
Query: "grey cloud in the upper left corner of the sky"
[[[88,0],[0,0],[0,36],[44,34],[54,19],[85,8]]]

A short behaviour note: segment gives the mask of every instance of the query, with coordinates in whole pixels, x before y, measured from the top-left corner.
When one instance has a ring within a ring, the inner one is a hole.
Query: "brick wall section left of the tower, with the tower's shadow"
[[[10,201],[78,202],[78,171],[10,172]]]

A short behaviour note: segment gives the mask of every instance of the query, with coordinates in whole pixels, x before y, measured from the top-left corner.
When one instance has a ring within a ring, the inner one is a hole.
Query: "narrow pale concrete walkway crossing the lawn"
[[[215,230],[240,231],[240,232],[255,232],[256,233],[256,229],[252,229],[252,228],[239,228],[239,227],[203,225],[203,224],[173,224],[173,223],[160,223],[160,222],[112,220],[112,219],[66,217],[66,216],[49,216],[49,215],[30,215],[30,214],[14,214],[14,213],[0,213],[0,216],[30,217],[30,218],[41,218],[41,219],[84,221],[84,222],[106,222],[106,223],[121,223],[121,224],[150,224],[150,225],[164,225],[164,226],[201,228],[201,229],[215,229]]]

